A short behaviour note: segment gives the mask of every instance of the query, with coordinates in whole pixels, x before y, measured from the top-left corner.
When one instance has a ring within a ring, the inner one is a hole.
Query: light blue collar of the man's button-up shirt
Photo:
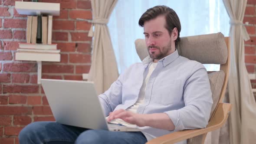
[[[162,62],[163,66],[165,67],[166,65],[168,65],[169,63],[173,62],[175,59],[177,59],[179,57],[179,52],[177,51],[177,49],[175,49],[175,51],[173,53],[171,53],[170,55],[164,57],[163,59],[160,59],[158,62]],[[143,59],[142,63],[143,64],[148,64],[150,62],[153,62],[154,59],[151,59],[150,56],[147,56],[145,59]]]

